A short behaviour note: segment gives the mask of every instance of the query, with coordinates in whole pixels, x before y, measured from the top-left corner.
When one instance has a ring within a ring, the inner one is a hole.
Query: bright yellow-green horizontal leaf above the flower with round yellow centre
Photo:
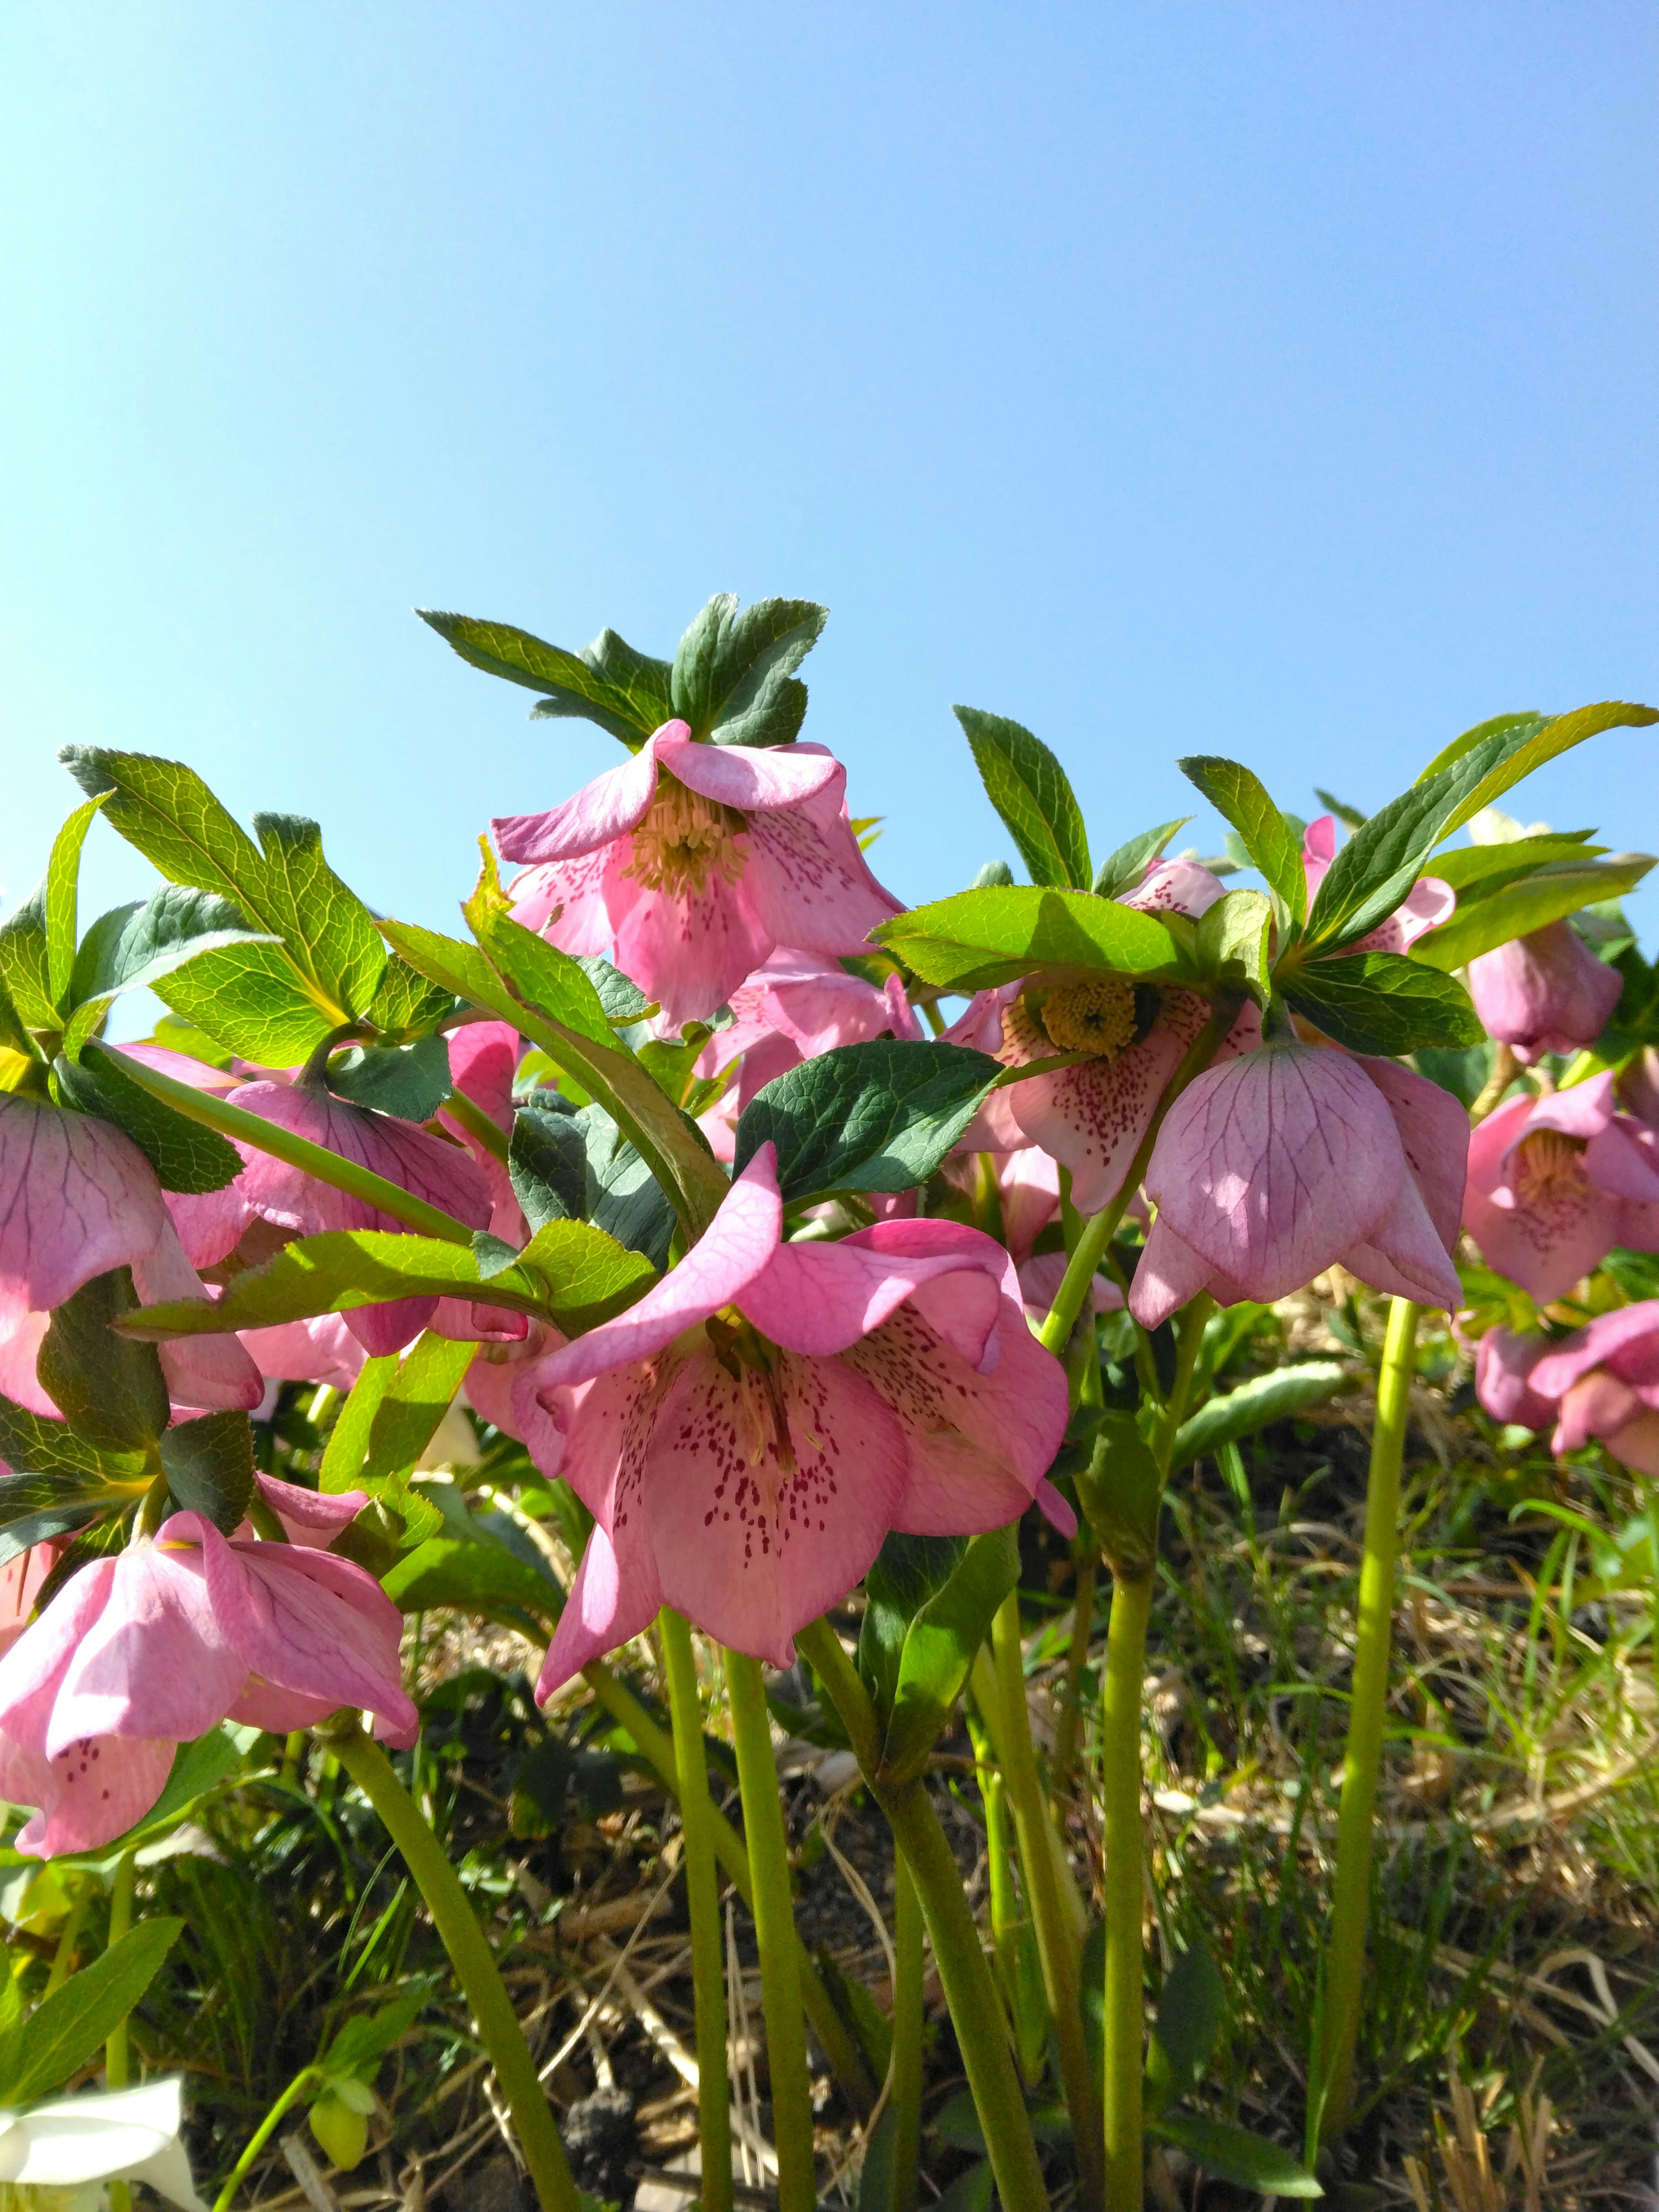
[[[1035,885],[958,891],[880,922],[872,936],[922,982],[982,991],[1040,967],[1108,969],[1115,975],[1192,975],[1190,925],[1119,907],[1093,891]]]

